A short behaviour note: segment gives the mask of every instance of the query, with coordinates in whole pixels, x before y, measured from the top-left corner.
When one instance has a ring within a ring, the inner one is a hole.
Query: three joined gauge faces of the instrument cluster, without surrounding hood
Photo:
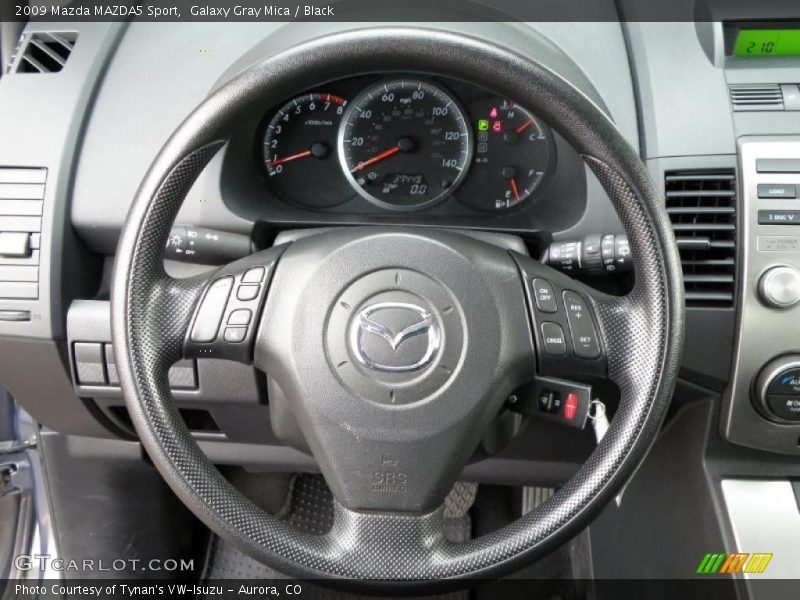
[[[458,202],[510,213],[556,166],[547,125],[513,99],[442,78],[366,76],[272,109],[257,159],[271,195],[336,211],[361,198],[387,211]]]

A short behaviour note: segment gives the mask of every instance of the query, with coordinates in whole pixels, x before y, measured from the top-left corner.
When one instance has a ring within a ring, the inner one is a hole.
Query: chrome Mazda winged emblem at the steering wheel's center
[[[373,320],[373,316],[381,311],[407,311],[413,314],[415,321],[395,333],[387,326]],[[404,342],[417,336],[427,336],[428,343],[425,352],[414,362],[405,365],[386,365],[373,360],[364,351],[364,339],[367,335],[379,337],[393,352],[397,352]],[[350,330],[350,346],[356,360],[373,371],[408,373],[422,369],[436,358],[440,344],[441,333],[433,316],[421,306],[404,302],[380,302],[367,306],[356,315]]]

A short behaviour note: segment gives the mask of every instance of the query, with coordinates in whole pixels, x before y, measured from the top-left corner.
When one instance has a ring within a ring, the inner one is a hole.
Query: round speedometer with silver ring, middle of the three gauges
[[[470,127],[442,88],[415,79],[378,83],[362,92],[339,129],[339,160],[364,198],[416,210],[450,195],[467,174]]]

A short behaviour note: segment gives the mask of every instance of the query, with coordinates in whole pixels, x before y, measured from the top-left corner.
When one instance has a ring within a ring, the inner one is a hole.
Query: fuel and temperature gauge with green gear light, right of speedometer
[[[468,112],[475,151],[458,198],[478,210],[520,206],[555,164],[550,130],[528,110],[500,98],[477,100]]]

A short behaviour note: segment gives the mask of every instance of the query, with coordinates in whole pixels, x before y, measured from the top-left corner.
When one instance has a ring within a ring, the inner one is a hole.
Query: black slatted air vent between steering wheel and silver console
[[[733,169],[668,171],[667,213],[678,242],[687,306],[732,306],[736,276]]]

